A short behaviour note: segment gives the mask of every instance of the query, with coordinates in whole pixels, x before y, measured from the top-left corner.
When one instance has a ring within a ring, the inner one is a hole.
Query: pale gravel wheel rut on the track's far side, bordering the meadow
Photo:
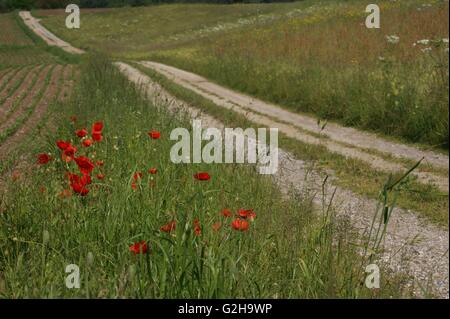
[[[277,105],[234,92],[196,74],[172,66],[155,62],[141,62],[141,65],[165,75],[174,83],[194,91],[218,106],[245,115],[255,123],[269,127],[278,127],[281,132],[291,138],[307,144],[325,146],[331,152],[364,161],[375,169],[399,172],[407,170],[407,167],[381,156],[368,153],[364,149],[370,148],[396,158],[407,158],[414,161],[424,157],[425,162],[439,168],[448,169],[448,156],[387,141],[374,134],[343,127],[335,123],[328,123],[325,129],[320,132],[328,139],[319,138],[314,136],[314,133],[319,133],[319,130],[317,120],[312,117],[292,113]],[[421,182],[433,183],[442,191],[448,192],[448,174],[447,176],[439,176],[419,171],[415,172],[414,175]]]

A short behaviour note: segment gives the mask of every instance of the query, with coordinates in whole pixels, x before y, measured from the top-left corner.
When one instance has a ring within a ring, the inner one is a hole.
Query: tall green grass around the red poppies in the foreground
[[[403,278],[383,269],[383,289],[361,283],[375,256],[353,230],[333,218],[328,203],[313,213],[308,194],[283,196],[270,178],[242,165],[176,165],[168,136],[190,127],[164,105],[152,105],[105,58],[83,64],[72,99],[52,107],[57,123],[43,147],[54,160],[31,169],[28,178],[8,180],[0,204],[0,296],[21,297],[272,297],[357,298],[408,296]],[[117,115],[120,116],[117,116]],[[70,122],[77,116],[76,124]],[[74,130],[104,122],[104,140],[78,154],[104,160],[85,197],[68,189],[57,139],[79,146]],[[162,137],[151,140],[149,130]],[[29,163],[32,166],[32,163]],[[149,175],[151,167],[158,174]],[[133,174],[144,173],[131,188]],[[200,182],[192,176],[207,171]],[[28,170],[27,170],[28,172]],[[25,174],[25,172],[23,172]],[[43,188],[42,188],[43,187]],[[223,208],[254,208],[248,232],[231,229]],[[375,213],[375,212],[374,212]],[[197,218],[201,235],[194,236]],[[173,233],[159,229],[177,221]],[[215,232],[212,225],[222,223]],[[146,240],[151,253],[134,255],[129,246]],[[89,256],[89,257],[88,257]],[[81,289],[66,289],[65,267],[81,270]]]

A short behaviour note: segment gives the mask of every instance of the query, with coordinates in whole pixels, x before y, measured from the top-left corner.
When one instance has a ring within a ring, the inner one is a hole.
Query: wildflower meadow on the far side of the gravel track
[[[81,48],[160,61],[319,119],[448,149],[448,3],[381,1],[381,30],[364,26],[365,5],[89,10],[83,32],[64,29],[54,11],[36,15]]]

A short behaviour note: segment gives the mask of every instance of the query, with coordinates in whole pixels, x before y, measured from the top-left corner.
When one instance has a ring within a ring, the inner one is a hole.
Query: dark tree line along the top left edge
[[[70,3],[80,8],[107,8],[123,6],[144,6],[160,3],[258,3],[291,2],[293,0],[0,0],[0,12],[15,9],[56,9],[64,8]]]

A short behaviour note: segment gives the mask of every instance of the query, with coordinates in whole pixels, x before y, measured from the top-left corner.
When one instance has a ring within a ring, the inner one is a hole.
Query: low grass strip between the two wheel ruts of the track
[[[245,117],[225,110],[198,94],[185,89],[163,75],[156,73],[141,65],[134,64],[143,73],[157,81],[175,97],[194,105],[197,108],[220,119],[230,127],[259,127]],[[335,172],[336,183],[344,188],[363,196],[379,198],[380,189],[389,178],[389,174],[367,167],[366,163],[356,159],[348,159],[339,154],[332,153],[320,145],[309,145],[280,134],[279,147],[292,152],[298,159],[311,163],[311,167],[325,172],[329,169]],[[415,163],[405,162],[406,167],[412,167]],[[429,168],[425,167],[425,170]],[[396,175],[400,175],[398,172]],[[441,172],[444,174],[444,172]],[[424,185],[408,178],[401,186],[397,198],[397,205],[416,211],[419,216],[438,225],[448,227],[448,194],[439,191],[436,187]]]

